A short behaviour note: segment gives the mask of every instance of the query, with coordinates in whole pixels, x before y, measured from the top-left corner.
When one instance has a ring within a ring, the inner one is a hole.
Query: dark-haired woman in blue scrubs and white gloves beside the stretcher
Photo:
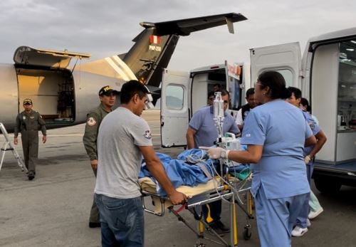
[[[263,105],[246,117],[241,144],[246,144],[247,150],[208,150],[213,159],[253,163],[251,192],[263,247],[291,246],[293,224],[310,193],[303,148],[316,140],[303,113],[286,102],[289,95],[280,73],[259,75],[255,97]]]

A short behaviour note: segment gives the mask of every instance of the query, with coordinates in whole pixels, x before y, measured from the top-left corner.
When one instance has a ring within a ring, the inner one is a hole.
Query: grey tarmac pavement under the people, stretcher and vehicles
[[[160,147],[157,110],[146,111],[143,117],[152,129],[157,152],[172,157],[182,152],[181,147]],[[0,246],[100,246],[100,228],[88,227],[95,177],[83,147],[84,126],[48,130],[47,143],[40,144],[33,181],[21,172],[11,152],[6,153],[0,171]],[[2,135],[0,141],[4,142]],[[23,157],[21,143],[16,149]],[[356,189],[342,186],[334,196],[312,189],[324,212],[312,221],[305,236],[293,238],[293,246],[356,246]],[[223,203],[226,224],[228,209]],[[251,239],[245,241],[246,216],[239,209],[237,212],[239,246],[259,246],[256,220],[251,221]],[[183,211],[182,216],[194,226],[189,212]],[[224,239],[229,241],[228,236]],[[145,214],[145,246],[194,246],[197,242],[219,246],[197,239],[173,214]]]

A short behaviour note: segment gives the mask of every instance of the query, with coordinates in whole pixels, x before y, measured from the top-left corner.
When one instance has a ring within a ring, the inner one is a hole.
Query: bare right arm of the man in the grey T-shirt
[[[184,204],[187,200],[184,194],[178,192],[174,189],[171,181],[167,177],[166,171],[162,166],[160,160],[158,159],[157,155],[155,154],[155,150],[152,146],[138,146],[145,158],[146,165],[148,170],[151,172],[153,177],[157,179],[159,184],[162,185],[164,191],[167,192],[169,199],[172,201],[172,204]]]

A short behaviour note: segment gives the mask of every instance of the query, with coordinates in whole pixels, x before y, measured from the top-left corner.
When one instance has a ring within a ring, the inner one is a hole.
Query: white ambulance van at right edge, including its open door
[[[302,90],[328,137],[315,160],[317,189],[356,186],[356,28],[310,38],[303,58],[299,43],[253,48],[250,55],[251,81],[265,70],[281,72]]]

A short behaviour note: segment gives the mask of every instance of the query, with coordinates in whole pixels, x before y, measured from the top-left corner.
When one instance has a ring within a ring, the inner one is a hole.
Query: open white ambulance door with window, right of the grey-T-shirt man
[[[187,145],[189,73],[164,70],[161,94],[162,147]]]

